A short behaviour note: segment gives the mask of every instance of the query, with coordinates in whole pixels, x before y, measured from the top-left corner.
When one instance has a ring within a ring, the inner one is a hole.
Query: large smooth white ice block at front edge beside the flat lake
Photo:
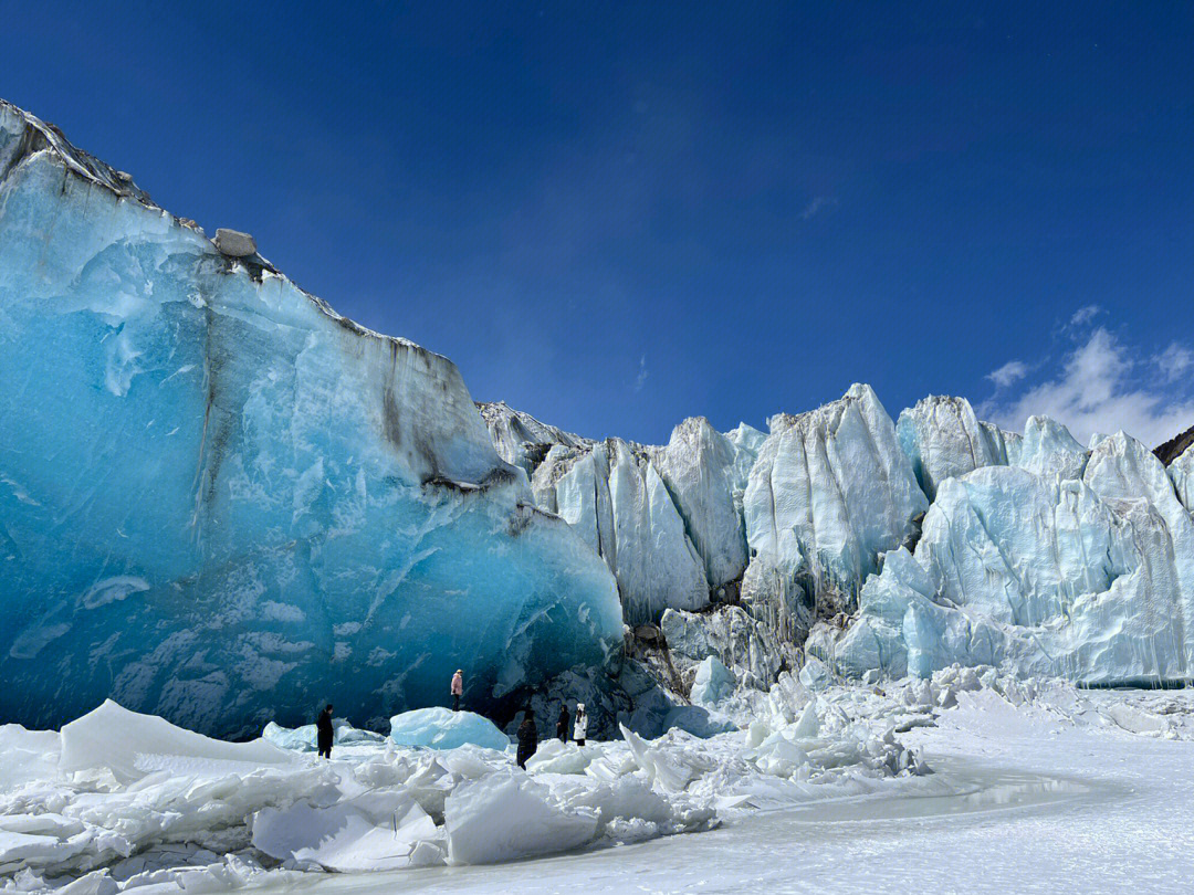
[[[444,802],[449,864],[568,851],[597,834],[597,811],[565,808],[521,771],[463,783]]]

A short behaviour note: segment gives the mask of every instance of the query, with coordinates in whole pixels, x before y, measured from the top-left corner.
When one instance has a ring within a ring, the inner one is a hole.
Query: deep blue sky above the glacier
[[[1194,424],[1189,4],[178,6],[7,5],[0,95],[479,400]]]

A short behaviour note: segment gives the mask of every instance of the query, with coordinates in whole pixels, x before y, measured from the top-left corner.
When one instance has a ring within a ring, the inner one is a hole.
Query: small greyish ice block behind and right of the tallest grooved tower
[[[946,479],[1008,464],[1003,433],[980,422],[965,397],[930,395],[917,401],[900,413],[896,433],[930,501]]]

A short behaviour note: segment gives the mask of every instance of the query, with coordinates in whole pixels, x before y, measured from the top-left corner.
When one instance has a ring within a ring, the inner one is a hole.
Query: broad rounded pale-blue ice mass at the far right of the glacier
[[[1033,442],[1026,434],[1029,462]],[[1076,462],[1060,444],[1046,453]],[[810,648],[853,674],[928,677],[959,662],[1085,684],[1189,679],[1189,513],[1161,462],[1124,433],[1082,459],[1081,479],[1045,463],[1040,474],[990,467],[947,481],[915,556],[888,554],[854,624],[819,629]]]

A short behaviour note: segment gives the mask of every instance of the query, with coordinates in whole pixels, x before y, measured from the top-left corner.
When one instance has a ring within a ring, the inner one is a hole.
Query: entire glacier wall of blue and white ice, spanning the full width
[[[0,172],[4,720],[112,698],[276,739],[333,700],[382,732],[463,666],[496,732],[583,698],[603,734],[710,734],[789,672],[1192,677],[1186,436],[893,419],[860,383],[765,431],[589,438],[8,104]]]

